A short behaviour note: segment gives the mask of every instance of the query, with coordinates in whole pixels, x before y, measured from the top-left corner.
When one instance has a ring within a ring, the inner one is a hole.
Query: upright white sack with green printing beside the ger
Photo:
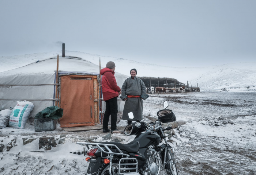
[[[12,110],[9,127],[24,129],[30,112],[33,110],[34,105],[29,101],[17,101],[17,105]]]

